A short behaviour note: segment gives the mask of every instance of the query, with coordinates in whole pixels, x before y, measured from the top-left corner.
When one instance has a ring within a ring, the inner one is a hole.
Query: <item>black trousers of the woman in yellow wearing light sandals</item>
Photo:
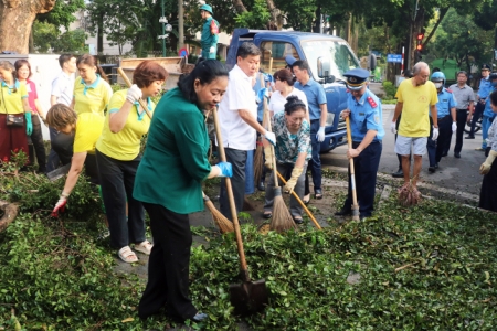
[[[112,246],[120,249],[130,243],[145,242],[144,205],[133,197],[135,175],[141,156],[130,161],[121,161],[107,157],[98,150],[95,154]],[[128,204],[127,218],[126,203]]]

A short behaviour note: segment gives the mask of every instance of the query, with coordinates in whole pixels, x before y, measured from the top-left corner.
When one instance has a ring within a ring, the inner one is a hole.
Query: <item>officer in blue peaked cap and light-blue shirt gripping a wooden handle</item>
[[[374,192],[377,173],[380,164],[384,136],[382,110],[380,99],[368,89],[369,72],[355,68],[343,74],[347,77],[347,87],[350,95],[347,97],[347,109],[341,116],[350,117],[352,148],[347,150],[347,158],[353,158],[353,167],[357,183],[357,200],[359,203],[360,218],[371,216],[374,210]],[[342,209],[335,215],[351,214],[352,190],[349,193]]]

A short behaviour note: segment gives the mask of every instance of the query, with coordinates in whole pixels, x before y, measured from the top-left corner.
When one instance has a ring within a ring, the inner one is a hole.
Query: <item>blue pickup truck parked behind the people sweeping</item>
[[[275,73],[286,65],[285,57],[292,55],[305,60],[310,66],[310,76],[322,84],[326,90],[328,119],[321,152],[347,143],[346,124],[339,116],[347,108],[347,87],[343,74],[359,66],[359,60],[349,44],[341,38],[296,31],[269,31],[235,29],[228,51],[226,65],[236,64],[236,50],[243,42],[253,42],[261,51],[261,68]]]

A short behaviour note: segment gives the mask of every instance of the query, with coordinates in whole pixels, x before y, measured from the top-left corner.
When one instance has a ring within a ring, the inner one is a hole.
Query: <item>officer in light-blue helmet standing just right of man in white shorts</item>
[[[436,72],[432,74],[432,82],[435,84],[436,90],[438,92],[438,103],[436,104],[436,115],[438,118],[438,138],[433,140],[432,134],[427,139],[426,148],[430,159],[429,171],[431,173],[435,172],[438,168],[438,162],[442,159],[442,154],[445,150],[448,150],[451,143],[452,132],[457,130],[456,124],[456,110],[455,107],[457,103],[454,95],[450,89],[444,87],[445,75],[442,72]],[[432,115],[430,114],[430,127],[433,127]]]

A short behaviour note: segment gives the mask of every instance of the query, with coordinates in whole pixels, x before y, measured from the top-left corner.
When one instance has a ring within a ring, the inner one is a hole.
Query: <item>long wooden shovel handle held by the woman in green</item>
[[[226,154],[224,153],[223,139],[221,136],[221,127],[219,126],[218,109],[213,109],[212,115],[214,116],[215,136],[218,136],[219,156],[221,157],[221,161],[226,162]],[[239,247],[240,269],[242,271],[242,277],[244,278],[244,280],[250,281],[248,270],[245,260],[245,253],[243,252],[242,233],[240,231],[239,217],[236,215],[236,206],[234,204],[233,189],[231,186],[231,179],[226,177],[225,182],[226,182],[228,199],[230,200],[231,215],[233,217],[233,227],[236,236],[236,246]]]

